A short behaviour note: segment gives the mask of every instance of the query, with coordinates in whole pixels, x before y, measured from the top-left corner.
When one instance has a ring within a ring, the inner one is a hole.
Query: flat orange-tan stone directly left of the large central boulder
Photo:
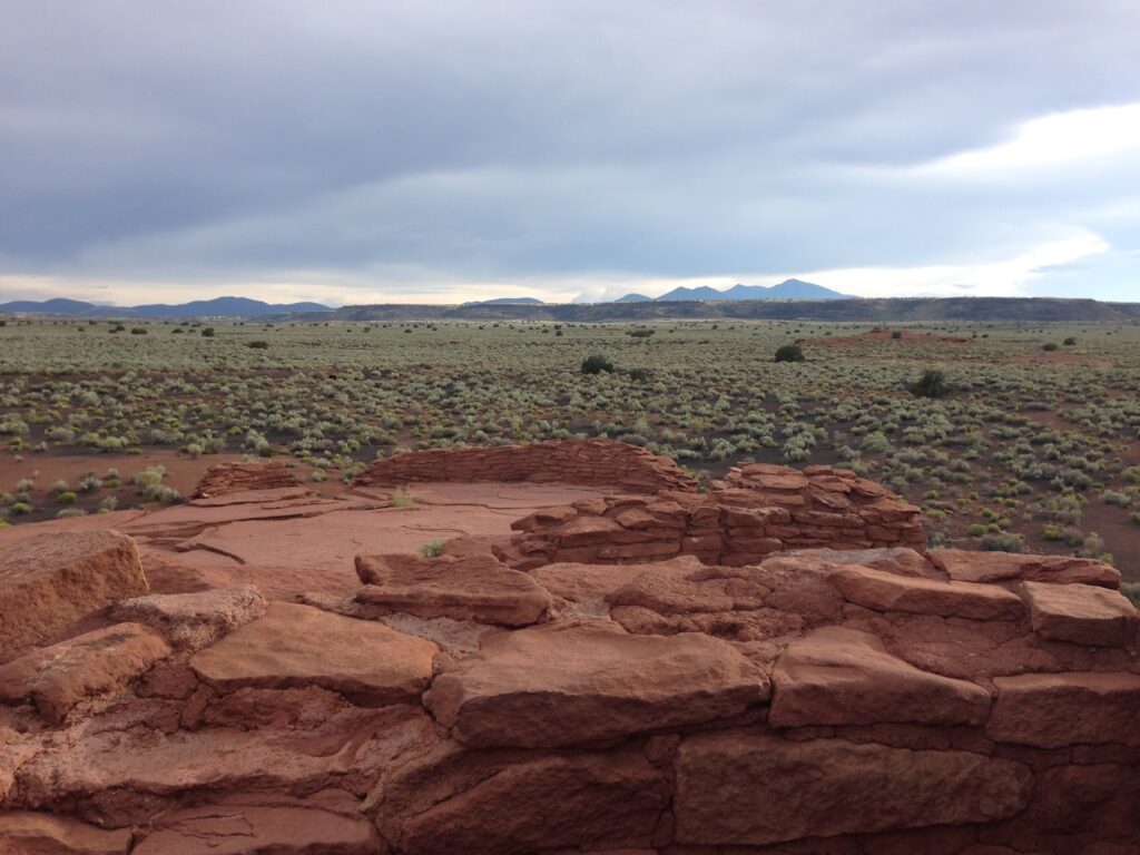
[[[361,702],[400,703],[426,687],[438,650],[375,621],[272,603],[263,618],[195,653],[190,667],[221,692],[316,685]]]

